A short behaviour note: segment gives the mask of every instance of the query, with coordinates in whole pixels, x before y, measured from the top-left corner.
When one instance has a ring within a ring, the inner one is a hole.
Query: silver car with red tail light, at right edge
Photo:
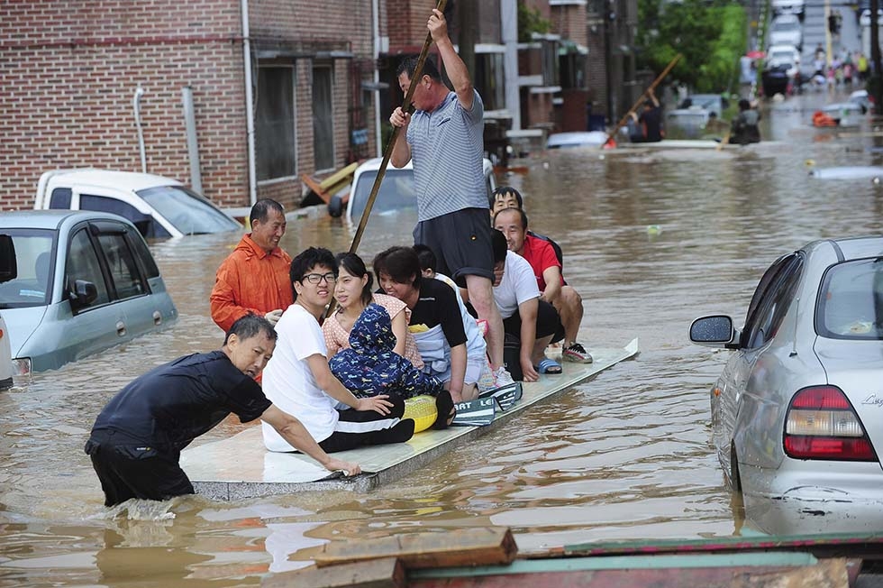
[[[769,533],[883,530],[883,238],[809,243],[763,274],[711,390],[714,444],[746,516]]]

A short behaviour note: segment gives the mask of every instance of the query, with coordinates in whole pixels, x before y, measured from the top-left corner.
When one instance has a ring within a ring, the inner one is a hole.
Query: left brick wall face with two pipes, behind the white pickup
[[[0,5],[0,208],[32,207],[45,170],[149,171],[187,181],[181,88],[193,88],[206,194],[247,194],[239,5],[214,0]],[[232,129],[239,129],[235,132]]]

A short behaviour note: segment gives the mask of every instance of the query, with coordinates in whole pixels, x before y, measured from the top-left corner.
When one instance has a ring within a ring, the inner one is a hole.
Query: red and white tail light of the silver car
[[[836,386],[797,391],[785,416],[785,453],[797,459],[877,461],[859,416]]]

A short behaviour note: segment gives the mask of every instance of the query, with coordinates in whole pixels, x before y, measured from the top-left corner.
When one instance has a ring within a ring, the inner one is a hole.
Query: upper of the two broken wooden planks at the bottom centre
[[[505,527],[457,529],[444,533],[405,533],[362,541],[332,541],[314,557],[324,567],[378,557],[396,557],[407,569],[503,565],[518,553]]]

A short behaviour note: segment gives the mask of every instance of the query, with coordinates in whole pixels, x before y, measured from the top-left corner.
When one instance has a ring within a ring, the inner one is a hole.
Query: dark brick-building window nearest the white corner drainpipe
[[[255,150],[258,179],[296,174],[295,69],[260,67],[255,96]]]

